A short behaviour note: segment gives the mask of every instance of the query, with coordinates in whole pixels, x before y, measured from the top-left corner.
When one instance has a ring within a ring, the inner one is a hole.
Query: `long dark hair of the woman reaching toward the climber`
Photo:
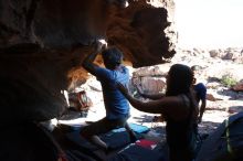
[[[193,72],[187,65],[175,64],[168,73],[166,96],[177,96],[180,94],[191,94],[193,83]]]

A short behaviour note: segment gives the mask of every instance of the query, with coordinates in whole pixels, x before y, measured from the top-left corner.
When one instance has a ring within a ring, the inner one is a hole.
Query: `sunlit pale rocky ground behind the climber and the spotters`
[[[232,54],[229,54],[232,53]],[[228,57],[226,57],[228,56]],[[236,56],[236,57],[235,57]],[[167,73],[169,67],[175,63],[187,64],[189,66],[199,65],[201,67],[198,82],[207,85],[209,100],[207,101],[207,110],[204,112],[202,122],[199,125],[201,133],[212,132],[225,118],[230,115],[243,110],[243,93],[233,92],[231,87],[222,84],[222,76],[229,75],[237,83],[242,83],[243,65],[242,50],[178,50],[176,56],[166,64],[157,65],[156,67],[148,67],[140,69],[140,73],[146,75],[149,69],[156,73]],[[139,71],[129,67],[131,73]],[[138,72],[139,73],[139,72]],[[82,118],[80,121],[95,121],[105,116],[103,105],[103,97],[99,83],[91,76],[85,85],[81,87],[87,92],[88,97],[93,101],[87,118]],[[145,125],[151,128],[150,135],[165,136],[165,122],[155,122],[152,118],[155,115],[138,111],[131,107],[131,118],[129,122]]]

